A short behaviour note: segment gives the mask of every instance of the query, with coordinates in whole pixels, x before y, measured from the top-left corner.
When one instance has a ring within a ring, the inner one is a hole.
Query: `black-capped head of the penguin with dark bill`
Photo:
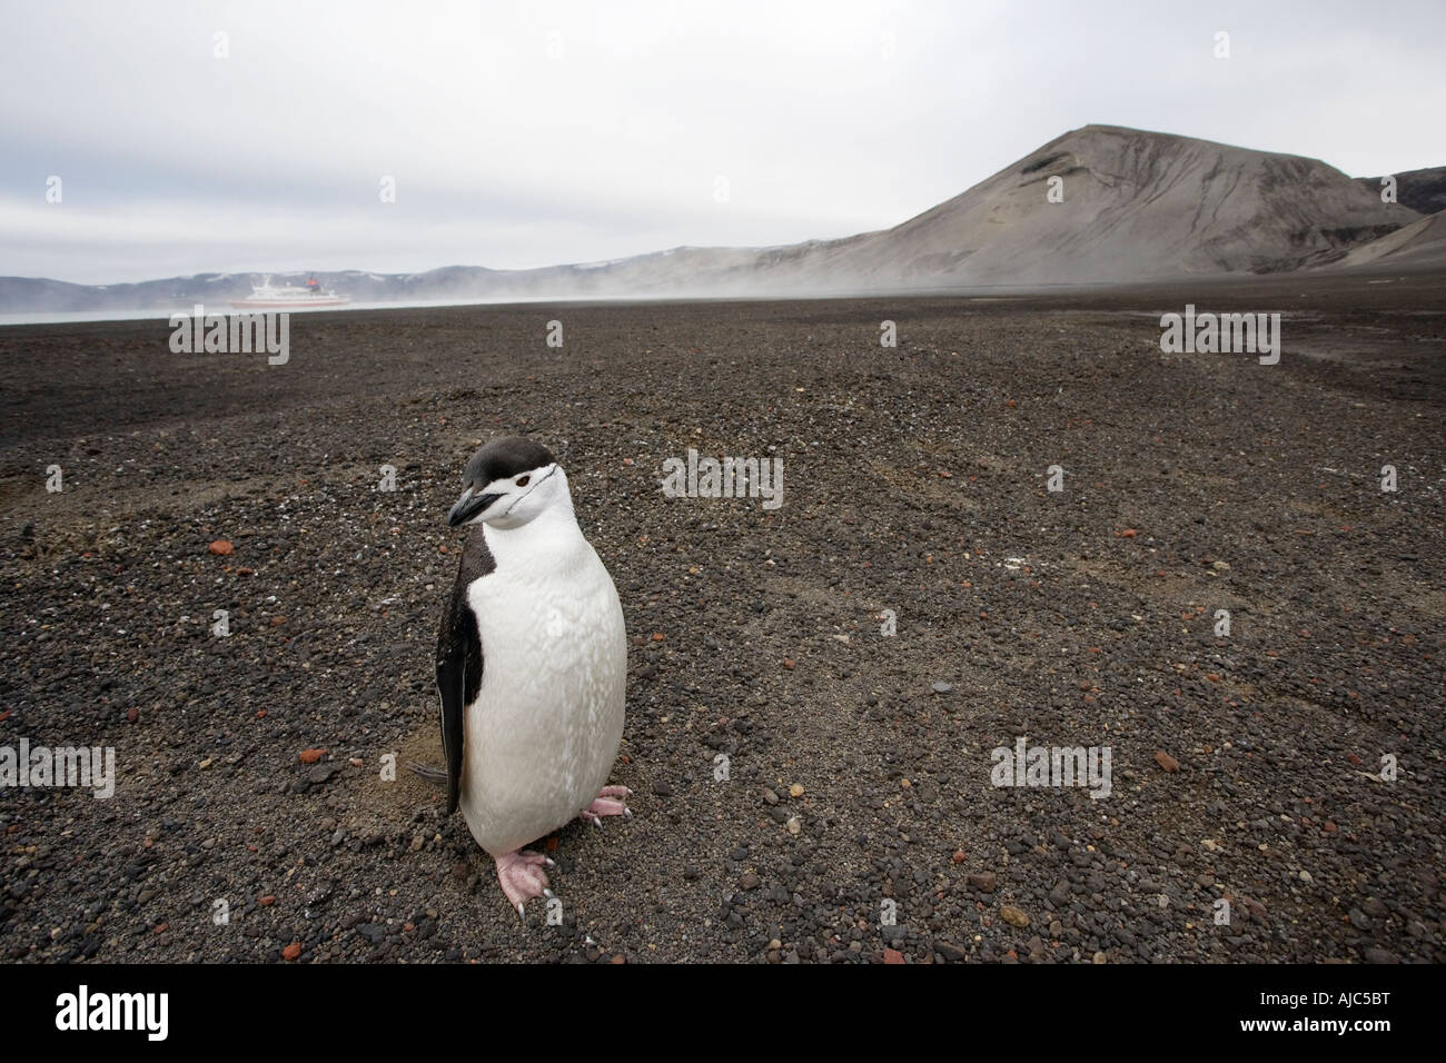
[[[552,453],[521,435],[503,435],[479,450],[463,473],[463,493],[447,524],[521,528],[552,506],[571,503],[567,474]]]

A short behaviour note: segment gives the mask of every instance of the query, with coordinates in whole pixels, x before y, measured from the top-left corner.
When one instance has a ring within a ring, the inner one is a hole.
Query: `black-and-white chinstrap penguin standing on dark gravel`
[[[552,861],[522,849],[574,817],[630,816],[609,787],[623,733],[628,636],[607,568],[538,443],[467,463],[447,524],[469,528],[437,641],[447,813],[461,808],[523,914]]]

